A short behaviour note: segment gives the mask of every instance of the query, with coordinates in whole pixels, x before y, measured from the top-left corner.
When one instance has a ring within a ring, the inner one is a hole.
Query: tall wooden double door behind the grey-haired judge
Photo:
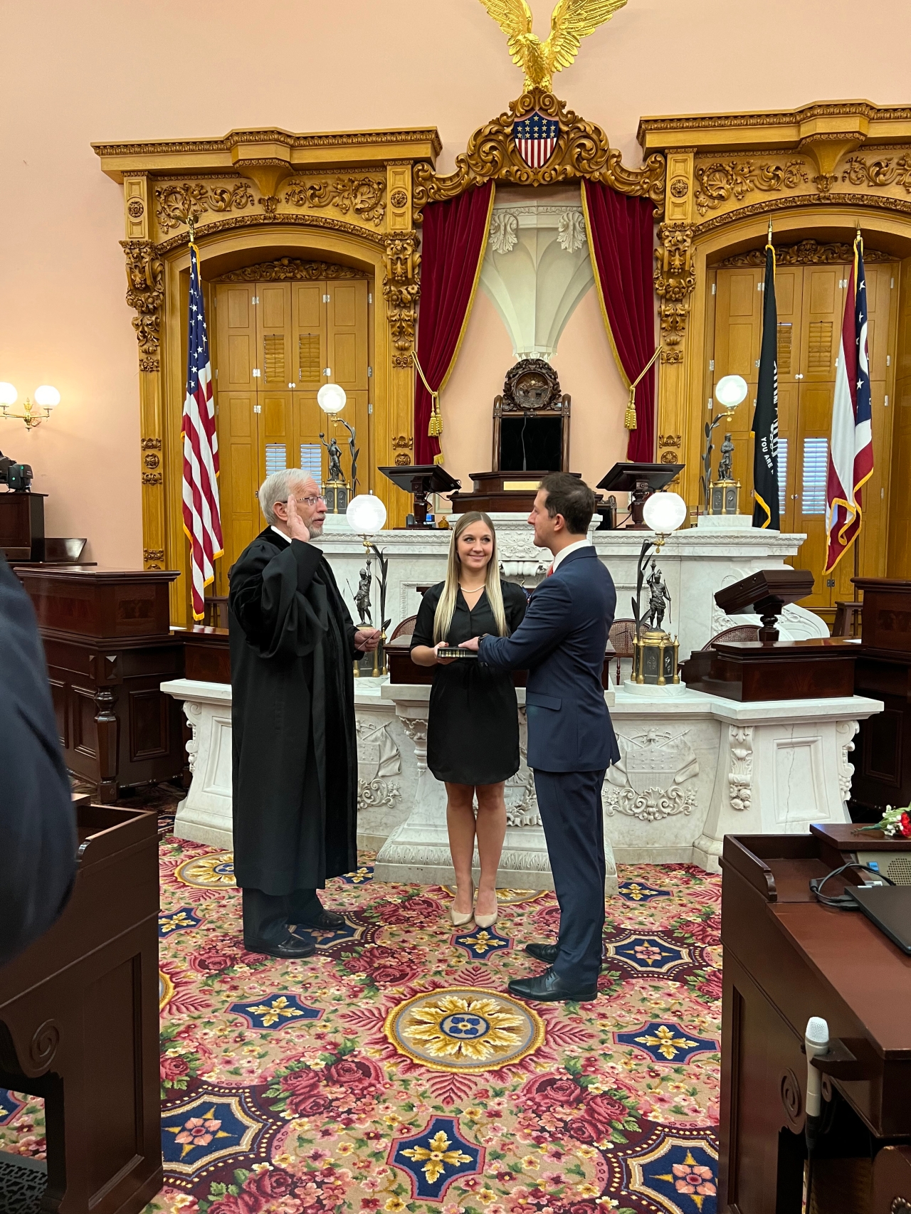
[[[317,404],[323,384],[347,393],[340,414],[357,432],[358,480],[370,466],[368,433],[368,297],[364,278],[313,282],[216,283],[213,369],[227,569],[265,526],[256,492],[266,476],[302,467],[322,484],[335,424]],[[336,426],[350,480],[349,433]]]

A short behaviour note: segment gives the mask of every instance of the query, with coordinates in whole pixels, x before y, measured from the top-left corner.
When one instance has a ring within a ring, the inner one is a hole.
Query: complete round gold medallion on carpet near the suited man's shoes
[[[477,987],[445,987],[406,999],[390,1011],[385,1032],[413,1062],[468,1074],[513,1066],[544,1042],[537,1012]]]

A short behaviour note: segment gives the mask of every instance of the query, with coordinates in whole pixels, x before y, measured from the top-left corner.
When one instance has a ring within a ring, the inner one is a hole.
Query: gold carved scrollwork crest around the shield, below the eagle
[[[539,169],[528,168],[513,138],[514,124],[534,110],[541,110],[560,125],[556,146],[547,164]],[[551,92],[532,89],[474,132],[468,148],[455,157],[454,172],[440,175],[426,163],[415,164],[413,203],[418,211],[425,203],[455,198],[471,186],[491,180],[516,186],[550,186],[582,177],[602,181],[621,194],[651,198],[657,214],[663,212],[662,155],[652,153],[641,169],[627,169],[621,153],[609,144],[600,126],[579,118]]]

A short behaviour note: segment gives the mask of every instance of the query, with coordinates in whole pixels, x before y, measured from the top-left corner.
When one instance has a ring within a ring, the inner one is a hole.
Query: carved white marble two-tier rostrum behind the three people
[[[532,544],[522,515],[497,515],[504,575],[532,585],[550,555]],[[374,537],[389,556],[386,614],[391,628],[414,615],[419,586],[441,582],[447,531],[391,531]],[[649,532],[594,532],[600,560],[617,586],[617,618],[632,615],[639,550]],[[668,631],[680,658],[725,628],[731,618],[714,594],[757,569],[796,556],[803,535],[751,527],[696,527],[669,537],[658,563],[670,590]],[[364,562],[360,535],[344,516],[328,520],[319,545],[330,560],[353,614],[353,589]],[[375,565],[374,565],[375,569]],[[374,620],[379,617],[374,589]],[[798,606],[786,607],[782,640],[827,635],[825,624]],[[187,743],[192,782],[181,802],[177,838],[230,849],[231,687],[177,679],[162,690],[183,700],[193,730]],[[430,688],[358,679],[355,714],[358,753],[358,841],[379,852],[378,880],[449,884],[446,789],[426,767]],[[621,762],[607,772],[602,805],[607,840],[607,891],[616,891],[615,860],[626,863],[697,863],[715,870],[725,834],[803,833],[811,822],[848,822],[850,754],[858,722],[882,710],[878,700],[771,700],[742,704],[686,687],[627,688],[606,693]],[[525,755],[525,692],[516,692]],[[553,889],[534,782],[525,758],[507,785],[508,829],[499,884]]]

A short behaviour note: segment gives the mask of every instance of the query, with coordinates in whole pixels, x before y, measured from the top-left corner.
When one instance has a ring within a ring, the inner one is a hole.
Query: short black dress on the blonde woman
[[[507,628],[522,622],[527,600],[521,586],[500,582]],[[412,636],[415,645],[434,647],[434,614],[443,583],[424,594]],[[497,635],[497,623],[481,592],[470,611],[462,591],[455,600],[446,640],[460,645],[483,632]],[[428,767],[451,784],[498,784],[519,771],[519,713],[515,685],[508,671],[491,670],[475,658],[459,658],[434,668],[428,715]]]

